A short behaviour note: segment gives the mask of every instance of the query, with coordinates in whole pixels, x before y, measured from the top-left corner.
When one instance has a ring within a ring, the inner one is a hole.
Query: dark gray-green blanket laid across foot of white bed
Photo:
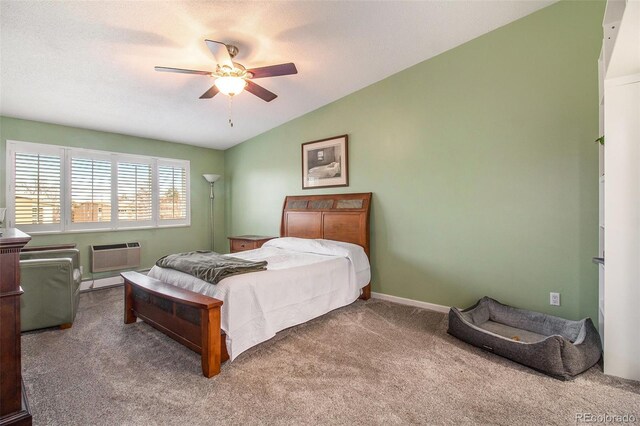
[[[232,275],[267,270],[266,261],[251,262],[236,257],[222,256],[213,251],[170,254],[158,259],[156,265],[193,275],[211,284],[218,284],[221,280]]]

